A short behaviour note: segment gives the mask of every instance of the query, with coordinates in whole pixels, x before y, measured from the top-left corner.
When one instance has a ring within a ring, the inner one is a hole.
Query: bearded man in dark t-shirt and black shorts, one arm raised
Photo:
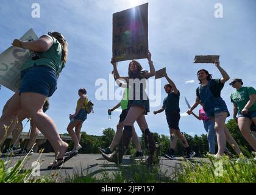
[[[163,101],[163,106],[159,110],[154,111],[154,115],[161,113],[165,110],[166,120],[169,126],[169,132],[171,135],[170,149],[166,152],[165,157],[169,159],[175,159],[174,152],[176,147],[176,137],[180,138],[182,145],[186,149],[186,158],[192,158],[196,155],[196,152],[190,149],[187,139],[182,135],[179,128],[180,121],[180,91],[177,89],[175,83],[165,74],[165,78],[168,84],[165,85],[165,92],[168,96]]]

